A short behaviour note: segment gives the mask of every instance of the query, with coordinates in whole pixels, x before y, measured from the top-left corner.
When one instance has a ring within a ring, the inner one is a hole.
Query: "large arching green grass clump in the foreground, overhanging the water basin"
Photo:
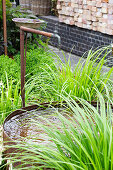
[[[18,153],[11,154],[12,163],[21,161],[16,168],[26,169],[28,164],[31,169],[57,169],[57,170],[112,170],[113,169],[113,132],[111,101],[105,104],[104,98],[97,91],[100,107],[95,108],[83,99],[77,98],[82,107],[72,98],[63,97],[67,102],[70,112],[65,117],[57,112],[61,123],[55,125],[46,118],[44,124],[33,121],[32,123],[44,130],[49,144],[18,141],[15,147]],[[98,104],[97,104],[98,105]],[[113,106],[113,103],[112,103]],[[68,119],[67,119],[68,118]],[[31,136],[30,136],[31,138]],[[32,150],[31,150],[32,148]],[[20,155],[19,150],[23,150]],[[29,154],[28,154],[29,153]]]

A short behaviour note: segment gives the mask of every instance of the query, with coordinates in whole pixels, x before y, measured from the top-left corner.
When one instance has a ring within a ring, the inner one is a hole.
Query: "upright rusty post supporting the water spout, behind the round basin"
[[[25,107],[24,31],[21,29],[20,29],[20,55],[21,55],[21,97],[22,97],[22,106]]]

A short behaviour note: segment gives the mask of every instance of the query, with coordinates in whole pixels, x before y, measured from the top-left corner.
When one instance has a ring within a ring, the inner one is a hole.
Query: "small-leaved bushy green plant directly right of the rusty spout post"
[[[43,72],[46,64],[51,65],[54,59],[51,53],[48,51],[47,44],[43,43],[41,40],[37,41],[36,44],[29,44],[28,52],[26,55],[26,79],[31,78],[32,75]],[[15,56],[15,61],[20,65],[20,55]]]

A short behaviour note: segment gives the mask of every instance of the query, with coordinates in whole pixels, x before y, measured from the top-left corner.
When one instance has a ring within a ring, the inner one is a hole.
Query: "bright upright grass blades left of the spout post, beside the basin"
[[[0,124],[9,113],[21,107],[20,81],[15,85],[15,80],[11,77],[8,80],[7,73],[5,78],[7,84],[2,80],[0,82]]]

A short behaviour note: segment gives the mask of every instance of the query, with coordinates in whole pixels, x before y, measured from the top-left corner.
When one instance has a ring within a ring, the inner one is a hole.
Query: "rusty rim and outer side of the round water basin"
[[[57,103],[54,103],[54,106],[56,107],[59,107],[59,104]],[[25,151],[24,148],[23,149],[18,149],[15,147],[15,145],[18,144],[18,141],[19,140],[15,140],[15,139],[12,139],[10,137],[10,135],[8,135],[7,131],[5,131],[4,129],[4,125],[5,123],[7,123],[8,120],[10,120],[12,117],[14,116],[19,116],[21,115],[22,113],[27,113],[28,111],[32,111],[32,110],[37,110],[37,111],[40,111],[40,110],[43,110],[45,108],[48,108],[49,107],[49,103],[43,103],[42,104],[42,107],[38,106],[38,105],[32,105],[32,106],[27,106],[27,107],[24,107],[22,109],[18,109],[16,111],[14,111],[13,113],[11,113],[10,115],[7,116],[7,118],[5,119],[4,123],[3,123],[3,141],[4,141],[4,152],[3,152],[3,156],[5,158],[5,163],[7,164],[7,160],[9,160],[10,157],[13,157],[15,156],[15,154],[19,155],[17,157],[17,161],[14,162],[11,166],[13,166],[14,168],[17,168],[18,166],[22,166],[21,168],[25,168],[25,167],[31,167],[32,163],[31,164],[25,164],[25,165],[22,165],[23,162],[20,161],[20,156],[22,155],[22,153]],[[9,147],[7,147],[9,146]],[[31,152],[32,153],[32,152]],[[28,153],[30,154],[30,153]],[[27,160],[26,160],[27,162]],[[37,164],[37,166],[40,166],[40,164]],[[9,170],[10,168],[10,164],[7,165],[6,167],[6,170]]]

